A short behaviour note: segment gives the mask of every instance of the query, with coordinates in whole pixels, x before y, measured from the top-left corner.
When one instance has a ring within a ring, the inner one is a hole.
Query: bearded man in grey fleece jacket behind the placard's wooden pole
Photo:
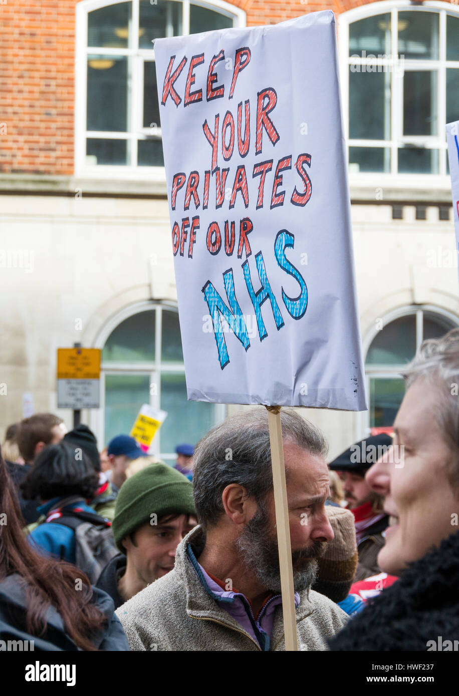
[[[347,615],[311,590],[334,538],[318,430],[281,411],[299,649],[325,650]],[[199,526],[176,564],[117,610],[131,650],[285,650],[266,409],[228,418],[194,454]]]

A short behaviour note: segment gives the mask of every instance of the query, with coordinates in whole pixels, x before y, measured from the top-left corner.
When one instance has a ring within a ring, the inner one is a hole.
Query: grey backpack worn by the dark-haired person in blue
[[[104,567],[119,553],[111,521],[92,512],[69,510],[61,512],[52,523],[63,524],[75,532],[75,565],[95,585]]]

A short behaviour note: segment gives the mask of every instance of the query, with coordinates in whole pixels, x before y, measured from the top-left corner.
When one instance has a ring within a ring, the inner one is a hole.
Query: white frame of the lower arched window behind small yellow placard
[[[145,312],[146,310],[155,310],[155,361],[145,363],[129,363],[128,361],[120,361],[104,363],[100,366],[100,409],[91,409],[90,411],[90,427],[98,438],[99,443],[105,443],[105,377],[107,374],[149,374],[150,383],[157,384],[157,394],[150,394],[150,406],[155,409],[160,409],[161,404],[161,374],[162,372],[177,372],[185,376],[184,363],[166,363],[161,360],[161,339],[162,339],[162,310],[175,312],[178,314],[176,303],[168,301],[142,301],[130,305],[114,317],[111,317],[102,327],[98,338],[95,340],[94,347],[104,348],[111,332],[116,329],[119,324],[129,319],[136,314]],[[157,340],[158,337],[160,340]],[[141,404],[139,404],[140,408]],[[213,425],[221,422],[226,418],[226,404],[214,404]],[[132,424],[134,425],[134,424]],[[102,447],[101,447],[102,448]],[[150,447],[150,454],[161,457],[165,461],[172,461],[176,458],[175,452],[161,452],[161,429],[157,432],[153,443]]]

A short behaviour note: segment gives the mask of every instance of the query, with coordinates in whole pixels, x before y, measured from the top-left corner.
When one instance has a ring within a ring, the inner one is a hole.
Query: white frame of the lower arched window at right
[[[421,345],[423,341],[423,316],[425,314],[435,315],[439,319],[445,319],[450,322],[452,328],[459,326],[459,317],[448,310],[443,308],[424,304],[424,305],[408,305],[400,307],[396,310],[385,314],[382,318],[382,326],[384,331],[384,326],[387,326],[395,319],[400,319],[400,317],[415,316],[416,317],[416,350]],[[400,378],[400,373],[406,369],[407,363],[403,365],[367,365],[366,358],[368,356],[368,351],[375,340],[376,336],[380,333],[376,329],[376,324],[372,331],[369,331],[362,340],[362,349],[365,356],[365,383],[366,383],[366,395],[368,399],[368,411],[360,411],[357,414],[357,439],[364,438],[370,434],[370,418],[371,418],[371,404],[370,404],[370,380],[373,378],[379,379],[396,379]]]

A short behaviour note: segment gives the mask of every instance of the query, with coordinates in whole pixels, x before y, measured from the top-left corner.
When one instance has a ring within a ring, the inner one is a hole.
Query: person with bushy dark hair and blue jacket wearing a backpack
[[[94,497],[98,487],[98,474],[81,448],[62,441],[43,449],[21,484],[25,500],[42,501],[38,507],[42,523],[33,525],[27,537],[31,544],[75,564],[75,531],[53,520],[72,510],[94,514],[86,500]]]

